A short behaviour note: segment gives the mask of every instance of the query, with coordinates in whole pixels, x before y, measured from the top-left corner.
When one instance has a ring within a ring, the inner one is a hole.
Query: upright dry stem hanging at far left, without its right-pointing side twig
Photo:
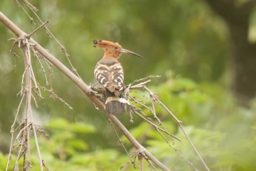
[[[46,24],[46,23],[45,23]],[[42,25],[39,27],[41,28]],[[39,29],[38,28],[38,29]],[[36,30],[38,30],[36,29]],[[32,64],[31,64],[31,46],[33,46],[33,43],[30,43],[28,40],[31,37],[31,35],[35,33],[32,32],[31,34],[24,34],[22,37],[14,39],[14,45],[12,47],[12,51],[15,50],[15,47],[18,46],[20,49],[23,51],[23,58],[24,58],[24,73],[22,75],[22,90],[20,91],[20,95],[22,96],[22,99],[20,100],[20,104],[18,106],[18,109],[16,111],[16,116],[14,123],[11,126],[11,145],[10,145],[10,151],[7,159],[7,165],[6,165],[6,171],[8,170],[8,166],[10,164],[11,160],[11,151],[14,146],[16,148],[19,148],[18,150],[18,155],[15,161],[15,165],[13,170],[18,171],[19,166],[18,166],[18,161],[23,157],[23,170],[31,170],[32,164],[31,164],[31,144],[30,144],[30,131],[33,131],[33,136],[35,138],[35,143],[36,143],[36,149],[37,149],[37,154],[39,156],[39,161],[40,161],[40,171],[43,171],[44,167],[44,161],[42,160],[41,157],[41,152],[39,148],[39,142],[37,140],[37,126],[35,126],[33,119],[32,119],[32,107],[31,107],[31,101],[32,99],[35,100],[35,98],[32,95],[32,83],[35,85],[35,88],[39,96],[41,97],[41,92],[40,89],[37,85],[35,74],[33,72]],[[25,82],[25,84],[24,84]],[[15,129],[15,124],[16,120],[19,115],[20,108],[23,103],[23,99],[25,97],[25,116],[23,119],[22,124],[18,126],[18,128]],[[37,104],[36,104],[37,106]],[[18,135],[16,136],[16,143],[15,145],[12,144],[14,141],[14,133],[15,130],[19,130]]]

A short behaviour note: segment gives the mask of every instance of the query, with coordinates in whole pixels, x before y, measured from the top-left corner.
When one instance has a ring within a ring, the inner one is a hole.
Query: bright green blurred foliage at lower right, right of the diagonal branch
[[[182,120],[186,133],[206,163],[210,165],[211,170],[256,168],[254,108],[237,105],[231,92],[221,89],[220,86],[213,83],[197,84],[187,78],[174,76],[170,72],[168,80],[157,87],[152,87],[152,90],[156,91],[160,99],[178,119]],[[150,105],[149,102],[148,104]],[[161,160],[169,163],[173,170],[193,170],[183,157],[199,170],[204,170],[177,123],[163,108],[159,106],[156,108],[159,117],[165,120],[164,126],[180,137],[182,142],[173,140],[175,142],[173,144],[170,141],[170,147],[161,135],[145,122],[131,129],[131,133],[138,139],[143,137],[148,149]],[[193,126],[189,123],[193,123]]]

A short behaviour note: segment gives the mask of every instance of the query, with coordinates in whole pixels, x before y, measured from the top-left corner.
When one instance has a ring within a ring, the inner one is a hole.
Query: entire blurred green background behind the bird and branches
[[[48,28],[66,47],[72,64],[88,84],[96,82],[93,69],[103,51],[92,40],[118,41],[144,59],[123,55],[125,82],[159,74],[150,88],[183,121],[211,170],[256,170],[256,2],[250,0],[172,1],[30,1]],[[20,2],[22,3],[22,2]],[[39,21],[28,10],[37,26]],[[0,1],[0,11],[30,33],[32,24],[15,1]],[[10,126],[18,107],[24,64],[9,53],[14,37],[0,24],[0,170],[5,169]],[[35,37],[34,37],[35,38]],[[44,29],[37,41],[68,67],[57,43]],[[45,86],[36,58],[33,69]],[[53,67],[48,79],[54,92],[73,109],[44,92],[33,117],[49,137],[40,136],[42,157],[50,170],[118,170],[129,161],[102,112],[68,78]],[[157,106],[157,115],[182,142],[174,147],[199,170],[205,170],[178,129],[177,123]],[[24,108],[22,108],[24,111]],[[144,121],[128,113],[122,122],[140,142],[172,170],[194,170]],[[22,121],[22,116],[18,120]],[[122,137],[129,151],[131,145]],[[32,141],[32,170],[39,170]],[[15,151],[13,157],[15,158]],[[12,160],[14,162],[15,160]],[[13,165],[13,163],[12,163]],[[145,164],[146,166],[146,164]],[[11,167],[10,167],[11,168]],[[146,166],[146,170],[148,167]],[[128,164],[123,170],[133,170]],[[149,169],[148,169],[149,170]]]

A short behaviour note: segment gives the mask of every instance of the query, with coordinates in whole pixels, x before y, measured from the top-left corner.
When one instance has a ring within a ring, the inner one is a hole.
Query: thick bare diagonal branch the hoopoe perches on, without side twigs
[[[27,33],[23,32],[20,28],[18,28],[14,23],[12,23],[11,20],[9,20],[5,15],[2,14],[0,11],[0,21],[6,25],[8,29],[10,29],[17,37],[27,36]],[[88,94],[89,86],[83,82],[83,80],[79,77],[77,77],[74,73],[70,71],[69,68],[67,68],[65,65],[63,65],[57,58],[55,58],[52,54],[50,54],[48,51],[46,51],[39,43],[37,43],[33,38],[29,38],[29,42],[32,44],[35,44],[35,49],[42,55],[44,58],[49,60],[52,64],[54,64],[61,72],[63,72],[67,77],[70,78],[71,81],[73,81],[86,95],[89,99],[92,100],[93,103],[95,103],[100,109],[104,111],[104,104],[100,102],[99,99],[95,97],[93,94]],[[105,113],[105,112],[104,112]],[[105,113],[107,117],[113,122],[114,125],[117,126],[118,129],[121,130],[123,135],[126,136],[126,138],[133,144],[133,146],[136,148],[136,150],[143,151],[144,154],[150,159],[153,163],[155,163],[159,168],[161,168],[164,171],[169,171],[170,169],[167,168],[163,163],[161,163],[158,159],[156,159],[155,156],[153,156],[149,151],[146,150],[140,144],[136,139],[133,137],[133,135],[130,134],[130,132],[123,126],[123,124],[117,119],[114,115],[108,115]]]

